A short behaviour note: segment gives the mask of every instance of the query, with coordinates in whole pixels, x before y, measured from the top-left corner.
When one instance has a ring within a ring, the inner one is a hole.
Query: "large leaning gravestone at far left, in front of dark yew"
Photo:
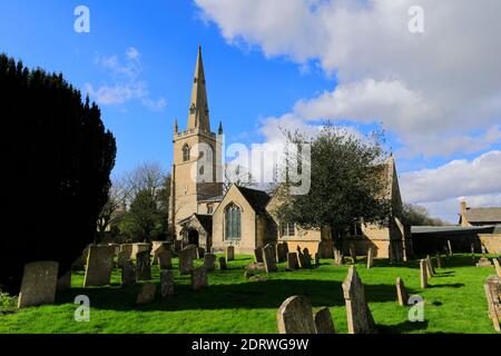
[[[56,300],[59,264],[37,261],[24,266],[18,308],[52,304]]]

